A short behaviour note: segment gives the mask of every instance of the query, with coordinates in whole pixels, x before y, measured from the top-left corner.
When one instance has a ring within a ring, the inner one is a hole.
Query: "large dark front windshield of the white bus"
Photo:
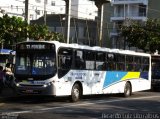
[[[55,75],[55,54],[52,52],[21,52],[16,56],[16,75]]]

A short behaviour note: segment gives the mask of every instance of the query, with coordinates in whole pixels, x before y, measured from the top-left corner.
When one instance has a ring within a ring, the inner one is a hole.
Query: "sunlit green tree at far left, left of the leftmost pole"
[[[7,14],[0,18],[0,43],[4,48],[12,46],[25,39],[28,24],[19,17],[9,17]]]

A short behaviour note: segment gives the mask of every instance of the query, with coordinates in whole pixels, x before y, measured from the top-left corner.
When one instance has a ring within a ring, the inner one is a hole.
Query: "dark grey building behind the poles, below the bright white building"
[[[50,31],[64,34],[65,14],[47,15],[47,26]],[[31,20],[31,24],[43,24],[44,17]],[[84,44],[94,46],[97,44],[97,22],[95,20],[71,18],[69,43]]]

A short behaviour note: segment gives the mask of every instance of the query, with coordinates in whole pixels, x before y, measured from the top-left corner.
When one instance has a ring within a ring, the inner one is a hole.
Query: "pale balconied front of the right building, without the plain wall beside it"
[[[110,40],[113,48],[132,49],[127,47],[124,38],[120,36],[122,25],[130,25],[131,21],[147,21],[148,0],[112,0],[113,14],[110,21],[113,25]],[[135,48],[133,48],[135,49]]]

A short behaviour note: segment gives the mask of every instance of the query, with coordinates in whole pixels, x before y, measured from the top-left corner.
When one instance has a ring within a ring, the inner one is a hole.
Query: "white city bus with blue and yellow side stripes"
[[[151,88],[151,55],[128,50],[25,41],[16,45],[16,90],[20,95],[67,96],[133,92]]]

